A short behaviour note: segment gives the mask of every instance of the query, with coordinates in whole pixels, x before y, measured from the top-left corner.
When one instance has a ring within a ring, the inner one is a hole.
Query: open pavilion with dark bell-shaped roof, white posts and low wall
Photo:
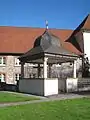
[[[73,77],[76,78],[76,59],[77,55],[67,51],[61,40],[53,35],[48,29],[36,38],[33,48],[23,54],[19,60],[21,61],[21,80],[19,90],[21,92],[29,92],[39,95],[58,94],[58,78],[51,78],[51,66],[53,64],[61,64],[66,62],[73,62]],[[38,78],[28,79],[24,78],[24,64],[33,63],[38,67]],[[43,67],[43,77],[41,76],[41,67]],[[49,77],[47,70],[49,69]]]

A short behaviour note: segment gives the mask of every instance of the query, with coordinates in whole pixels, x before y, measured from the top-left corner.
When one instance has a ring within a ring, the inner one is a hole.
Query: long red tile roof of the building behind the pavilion
[[[25,53],[44,31],[44,28],[0,27],[0,53]],[[71,43],[65,42],[72,30],[50,29],[50,32],[60,38],[67,50],[80,54]]]

